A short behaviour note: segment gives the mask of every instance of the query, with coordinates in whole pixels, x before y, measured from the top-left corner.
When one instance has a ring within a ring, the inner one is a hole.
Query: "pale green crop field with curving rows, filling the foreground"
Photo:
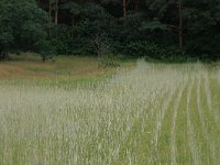
[[[45,81],[0,74],[0,164],[220,164],[220,65],[139,61],[107,77],[94,67],[103,74],[86,87],[65,66]]]

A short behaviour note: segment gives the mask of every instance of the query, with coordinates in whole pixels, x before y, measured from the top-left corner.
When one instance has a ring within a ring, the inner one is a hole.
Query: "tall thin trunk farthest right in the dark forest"
[[[183,43],[183,11],[182,11],[182,0],[178,2],[178,10],[179,10],[179,28],[178,28],[178,35],[179,35],[179,51],[184,53],[184,43]]]

